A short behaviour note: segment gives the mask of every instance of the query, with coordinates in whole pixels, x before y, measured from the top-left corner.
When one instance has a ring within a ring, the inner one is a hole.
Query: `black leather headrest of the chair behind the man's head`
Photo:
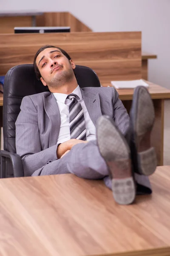
[[[100,87],[96,73],[89,67],[77,65],[74,70],[77,82],[83,87]],[[4,94],[8,97],[24,97],[47,91],[38,81],[32,64],[23,64],[8,70],[4,81]]]

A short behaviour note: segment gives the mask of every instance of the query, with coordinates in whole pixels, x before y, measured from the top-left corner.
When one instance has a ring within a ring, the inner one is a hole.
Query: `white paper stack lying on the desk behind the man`
[[[133,89],[133,88],[136,88],[139,85],[143,85],[145,87],[149,87],[149,84],[147,84],[142,79],[130,80],[130,81],[111,81],[111,84],[116,89]]]

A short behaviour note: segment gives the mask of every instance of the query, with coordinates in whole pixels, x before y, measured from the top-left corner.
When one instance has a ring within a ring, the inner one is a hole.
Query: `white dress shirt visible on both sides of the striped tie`
[[[82,93],[79,85],[72,92],[76,94],[78,98],[78,102],[82,105],[82,110],[85,118],[85,128],[86,128],[86,138],[87,141],[96,139],[96,128],[94,123],[91,121],[87,108],[85,106],[85,102],[82,98]],[[53,93],[56,98],[57,105],[59,107],[59,113],[61,118],[61,125],[59,129],[59,137],[57,143],[63,143],[67,140],[70,140],[70,125],[69,125],[69,105],[71,103],[70,99],[66,99],[68,94],[64,93]]]

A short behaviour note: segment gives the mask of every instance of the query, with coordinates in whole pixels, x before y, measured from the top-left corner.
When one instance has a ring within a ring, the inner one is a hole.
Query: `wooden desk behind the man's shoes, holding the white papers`
[[[151,141],[152,145],[156,148],[157,164],[158,166],[162,166],[164,147],[164,99],[170,99],[170,90],[149,81],[146,82],[150,85],[149,92],[153,99],[156,115]],[[112,85],[111,83],[102,83],[102,86],[107,87]],[[119,89],[117,91],[119,93],[119,99],[122,100],[129,113],[133,97],[133,89]]]

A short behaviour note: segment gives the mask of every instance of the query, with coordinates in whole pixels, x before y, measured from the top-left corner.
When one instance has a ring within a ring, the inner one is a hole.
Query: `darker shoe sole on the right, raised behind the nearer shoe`
[[[142,86],[136,87],[130,111],[130,122],[133,140],[136,145],[136,167],[140,174],[147,176],[153,174],[156,169],[155,148],[150,146],[146,150],[139,152],[138,146],[142,141],[150,140],[154,119],[154,106],[148,90]]]

